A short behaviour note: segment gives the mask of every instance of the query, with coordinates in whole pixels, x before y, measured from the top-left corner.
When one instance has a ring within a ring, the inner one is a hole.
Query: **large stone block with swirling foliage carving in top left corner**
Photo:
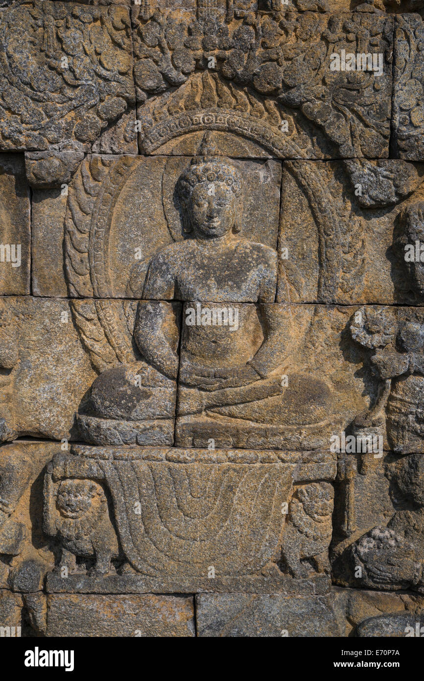
[[[35,1],[1,23],[0,148],[89,151],[134,103],[129,9]]]

